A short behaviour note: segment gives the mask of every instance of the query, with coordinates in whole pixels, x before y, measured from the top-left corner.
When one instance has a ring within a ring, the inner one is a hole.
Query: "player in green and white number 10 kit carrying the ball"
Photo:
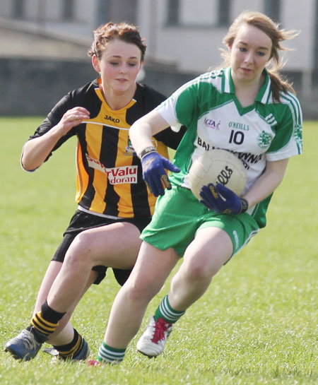
[[[153,357],[174,324],[201,295],[224,263],[266,225],[266,210],[293,155],[302,153],[302,112],[291,85],[278,73],[281,42],[296,35],[263,13],[244,12],[230,26],[222,69],[204,73],[179,88],[131,126],[131,143],[143,177],[156,196],[151,223],[143,230],[131,276],[112,306],[98,361],[120,362],[139,330],[143,314],[180,257],[169,294],[160,303],[137,349]],[[163,157],[151,137],[167,126],[187,126],[177,148],[172,189]],[[192,162],[206,148],[229,150],[245,161],[247,184],[237,196],[222,184],[189,189]]]

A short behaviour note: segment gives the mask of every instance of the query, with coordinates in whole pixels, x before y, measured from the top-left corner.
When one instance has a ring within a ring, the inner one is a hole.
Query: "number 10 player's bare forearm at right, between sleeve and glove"
[[[266,169],[263,174],[261,174],[249,191],[247,191],[245,196],[243,196],[249,203],[249,207],[266,199],[267,196],[271,195],[279,184],[281,184],[288,160],[289,158],[285,158],[274,162],[266,162]]]

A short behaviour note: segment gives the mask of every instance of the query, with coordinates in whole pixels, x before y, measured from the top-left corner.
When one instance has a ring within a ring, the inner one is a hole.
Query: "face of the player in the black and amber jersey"
[[[112,89],[114,93],[126,93],[136,88],[141,51],[134,44],[114,39],[107,43],[98,66],[103,88]]]

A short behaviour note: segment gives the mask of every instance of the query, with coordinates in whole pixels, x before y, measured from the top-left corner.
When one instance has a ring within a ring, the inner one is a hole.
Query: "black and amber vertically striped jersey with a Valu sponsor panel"
[[[90,119],[71,129],[52,150],[71,136],[77,136],[76,202],[92,213],[148,218],[153,213],[155,196],[143,182],[141,162],[129,141],[129,127],[165,97],[137,83],[131,102],[122,109],[113,110],[105,102],[99,83],[100,79],[95,79],[64,96],[30,139],[56,126],[67,110],[79,106],[88,109]],[[167,146],[177,148],[183,134],[184,129],[179,133],[166,129],[155,135],[153,143],[158,153],[167,157]]]

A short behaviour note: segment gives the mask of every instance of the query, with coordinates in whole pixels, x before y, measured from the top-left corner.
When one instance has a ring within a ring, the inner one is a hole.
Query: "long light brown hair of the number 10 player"
[[[293,86],[287,80],[283,79],[279,71],[283,68],[283,63],[281,63],[279,57],[279,50],[287,51],[288,49],[281,46],[281,42],[284,40],[293,39],[293,37],[299,34],[299,31],[296,30],[283,30],[279,28],[279,24],[274,23],[271,18],[264,15],[261,12],[254,11],[244,11],[240,13],[239,16],[233,21],[232,25],[228,29],[228,33],[223,39],[223,43],[230,47],[237,35],[238,30],[244,24],[253,25],[259,30],[262,30],[271,38],[272,48],[271,48],[271,60],[269,61],[269,66],[266,68],[271,77],[272,90],[273,90],[273,100],[279,102],[279,94],[283,91],[287,93],[288,91],[295,93]],[[224,59],[223,66],[228,66],[230,64],[230,52],[221,49],[221,56]]]

